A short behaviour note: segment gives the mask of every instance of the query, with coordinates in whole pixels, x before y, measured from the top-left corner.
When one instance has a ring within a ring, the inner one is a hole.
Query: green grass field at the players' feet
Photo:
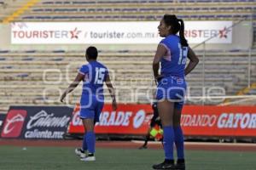
[[[1,170],[148,170],[163,161],[163,150],[96,149],[96,161],[79,161],[71,147],[0,146]],[[256,153],[186,151],[187,170],[255,170]]]

